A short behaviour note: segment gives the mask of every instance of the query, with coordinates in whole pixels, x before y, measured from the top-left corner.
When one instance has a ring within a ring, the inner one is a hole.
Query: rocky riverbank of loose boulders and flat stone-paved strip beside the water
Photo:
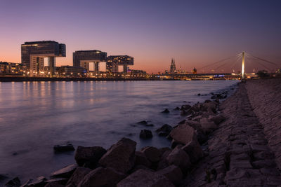
[[[50,179],[39,176],[21,185],[15,178],[6,186],[278,186],[280,170],[251,109],[248,84],[240,83],[222,103],[227,92],[178,107],[186,119],[158,130],[171,139],[171,148],[136,151],[136,142],[127,138],[108,150],[78,146],[77,163],[53,172]]]

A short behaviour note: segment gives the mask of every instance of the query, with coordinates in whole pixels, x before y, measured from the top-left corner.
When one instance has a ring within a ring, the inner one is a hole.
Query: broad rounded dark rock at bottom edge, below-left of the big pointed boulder
[[[125,174],[117,172],[110,167],[98,167],[86,174],[78,187],[98,187],[98,186],[116,186],[116,184],[126,177]]]

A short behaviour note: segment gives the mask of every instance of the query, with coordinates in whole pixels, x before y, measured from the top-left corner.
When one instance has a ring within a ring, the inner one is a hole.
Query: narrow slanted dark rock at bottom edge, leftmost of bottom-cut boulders
[[[67,181],[66,187],[77,187],[79,182],[82,181],[84,179],[84,176],[86,176],[86,174],[89,174],[89,172],[91,172],[91,169],[89,168],[77,167],[77,169],[75,169],[75,172]]]

